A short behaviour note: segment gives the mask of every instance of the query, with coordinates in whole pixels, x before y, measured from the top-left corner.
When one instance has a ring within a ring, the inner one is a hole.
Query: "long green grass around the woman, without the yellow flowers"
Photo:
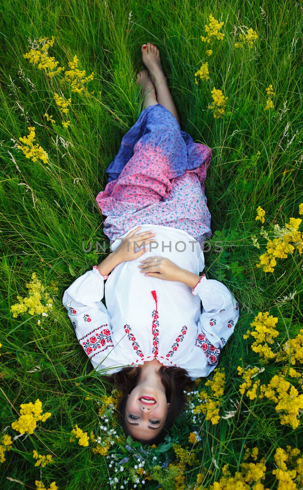
[[[200,36],[205,35],[210,14],[224,21],[225,37],[213,42],[213,54],[208,58],[209,46]],[[250,343],[243,340],[259,311],[279,318],[279,343],[303,328],[302,256],[296,251],[287,259],[278,259],[275,272],[264,273],[256,263],[266,241],[259,239],[258,250],[251,240],[259,233],[260,225],[255,221],[258,205],[265,209],[264,227],[272,233],[275,223],[284,226],[290,217],[298,218],[303,202],[302,14],[300,2],[290,1],[263,1],[260,5],[254,0],[211,0],[207,4],[154,0],[143,6],[136,0],[2,2],[1,432],[9,426],[5,433],[17,434],[10,425],[19,417],[21,403],[39,398],[44,411],[52,415],[38,424],[33,435],[14,441],[13,449],[5,453],[1,488],[35,489],[35,480],[42,480],[46,488],[56,481],[60,490],[108,488],[108,460],[93,454],[92,445],[70,442],[75,424],[88,434],[91,430],[98,433],[97,402],[106,386],[80,349],[61,298],[75,277],[105,256],[104,252],[95,253],[94,247],[85,253],[83,240],[94,244],[106,239],[109,245],[95,196],[106,185],[105,169],[117,154],[122,136],[140,114],[136,73],[143,68],[140,45],[147,41],[161,51],[182,129],[196,142],[213,148],[206,195],[212,215],[212,245],[222,242],[223,251],[218,253],[212,246],[205,254],[206,271],[209,278],[222,280],[229,287],[240,301],[241,312],[219,363],[226,371],[220,415],[234,410],[235,405],[237,413],[221,418],[217,425],[203,419],[205,437],[195,447],[194,466],[186,466],[184,488],[190,488],[205,467],[212,470],[212,474],[206,473],[205,489],[220,479],[226,463],[232,474],[240,470],[244,444],[259,448],[259,459],[264,457],[267,467],[265,485],[278,488],[271,474],[273,454],[287,444],[302,448],[302,425],[295,430],[281,425],[273,403],[250,401],[240,395],[236,366],[260,366]],[[253,49],[233,48],[240,27],[244,32],[251,27],[257,31]],[[88,85],[91,97],[71,93],[69,86],[64,90],[65,97],[71,97],[68,130],[60,123],[53,100],[56,78],[51,82],[23,57],[29,50],[27,38],[52,35],[55,43],[49,54],[60,66],[67,67],[76,54],[81,70],[86,70],[86,75],[95,73]],[[194,73],[205,61],[210,79],[196,85]],[[19,66],[24,77],[18,73]],[[275,108],[265,111],[269,84],[276,94]],[[228,97],[220,120],[208,110],[213,87]],[[46,111],[56,120],[54,127],[47,123]],[[14,147],[19,137],[28,134],[27,126],[35,126],[35,143],[47,151],[48,165],[26,159]],[[59,137],[70,142],[68,148]],[[26,294],[25,283],[32,272],[37,272],[46,289],[51,281],[58,281],[53,312],[41,325],[37,324],[41,317],[24,314],[14,319],[10,313],[17,295]],[[293,293],[293,299],[282,300]],[[277,364],[271,361],[260,375],[261,383],[269,382],[277,371]],[[290,381],[302,393],[302,386]],[[93,400],[85,400],[88,395]],[[184,434],[191,427],[185,429],[182,423],[178,427],[180,443],[186,445]],[[33,449],[52,454],[54,463],[40,472],[34,466]],[[302,488],[299,481],[296,485]],[[150,489],[157,486],[155,480],[145,484]],[[166,487],[162,484],[162,488]]]

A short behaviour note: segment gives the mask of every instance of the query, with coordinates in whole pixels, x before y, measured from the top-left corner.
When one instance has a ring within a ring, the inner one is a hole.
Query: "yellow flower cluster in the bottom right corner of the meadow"
[[[302,487],[303,483],[303,457],[301,456],[294,462],[300,454],[300,449],[286,446],[285,449],[277,447],[274,459],[277,469],[273,469],[272,474],[278,480],[277,490],[296,490]],[[292,470],[287,469],[287,465],[296,465]],[[297,487],[298,485],[298,487]]]

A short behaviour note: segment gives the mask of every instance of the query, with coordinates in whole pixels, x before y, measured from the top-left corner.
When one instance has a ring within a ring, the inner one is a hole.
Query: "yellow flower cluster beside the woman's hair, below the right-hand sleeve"
[[[206,414],[206,420],[210,420],[212,424],[219,422],[219,407],[221,405],[221,398],[224,394],[225,386],[225,373],[224,370],[219,371],[215,369],[212,380],[208,380],[205,386],[210,386],[211,395],[203,390],[199,393],[201,404],[194,408],[194,414]],[[219,400],[214,400],[219,398]]]

